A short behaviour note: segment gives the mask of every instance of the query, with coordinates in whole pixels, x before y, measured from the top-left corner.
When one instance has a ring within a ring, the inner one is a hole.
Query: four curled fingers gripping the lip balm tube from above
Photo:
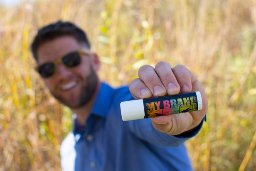
[[[169,63],[159,62],[155,68],[150,65],[140,67],[138,76],[130,82],[130,92],[136,99],[144,99],[191,92],[194,75],[185,66],[177,65],[172,71]]]

